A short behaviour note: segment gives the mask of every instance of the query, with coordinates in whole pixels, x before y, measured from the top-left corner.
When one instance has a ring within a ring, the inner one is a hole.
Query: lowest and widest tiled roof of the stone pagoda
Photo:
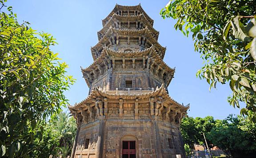
[[[86,99],[80,103],[76,103],[73,106],[69,106],[69,109],[72,110],[81,110],[84,107],[88,107],[89,104],[95,103],[97,98],[108,98],[108,99],[149,99],[152,97],[162,97],[164,99],[165,106],[172,106],[172,108],[184,109],[185,111],[189,109],[189,104],[184,106],[174,99],[172,99],[168,92],[164,88],[164,84],[155,91],[102,91],[98,87],[95,87],[94,90],[88,95]]]

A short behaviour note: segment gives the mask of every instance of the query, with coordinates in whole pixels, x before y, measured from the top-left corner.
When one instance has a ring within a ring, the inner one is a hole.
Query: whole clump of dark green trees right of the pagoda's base
[[[204,133],[210,148],[218,146],[232,156],[256,155],[256,124],[248,117],[229,115],[224,120],[212,116],[186,117],[182,119],[180,130],[187,144],[187,154],[190,152],[188,145],[191,149],[193,144],[205,146]]]

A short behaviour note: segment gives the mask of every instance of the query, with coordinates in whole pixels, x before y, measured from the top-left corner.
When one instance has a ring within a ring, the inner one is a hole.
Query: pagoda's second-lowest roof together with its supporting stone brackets
[[[140,70],[143,71],[148,69],[152,72],[152,75],[156,76],[162,83],[165,83],[166,86],[170,84],[172,78],[174,76],[175,68],[169,67],[157,54],[155,47],[152,45],[150,48],[147,48],[143,51],[128,51],[124,52],[113,51],[108,47],[104,47],[104,50],[100,54],[100,57],[97,58],[89,67],[81,68],[84,79],[90,87],[90,85],[99,78],[100,75],[104,75],[105,71],[108,69],[118,69],[115,64],[115,60],[124,59],[124,66],[121,70],[125,70],[125,60],[141,60],[142,67],[137,67],[135,64],[132,66],[132,70]],[[97,71],[99,70],[99,71]]]

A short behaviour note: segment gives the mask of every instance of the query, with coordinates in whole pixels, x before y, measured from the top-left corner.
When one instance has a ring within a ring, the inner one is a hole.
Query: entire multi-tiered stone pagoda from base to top
[[[69,106],[78,126],[72,158],[185,156],[180,122],[189,105],[168,95],[175,69],[153,22],[140,4],[116,4],[102,20],[94,62],[81,68],[89,95]]]

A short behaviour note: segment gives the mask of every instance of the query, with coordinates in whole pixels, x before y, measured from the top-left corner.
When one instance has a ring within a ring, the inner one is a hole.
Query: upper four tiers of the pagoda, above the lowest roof
[[[140,4],[116,4],[102,22],[99,41],[91,47],[94,62],[82,68],[90,92],[95,86],[107,91],[148,91],[163,84],[167,89],[175,68],[164,63],[166,47],[158,43],[159,32]]]

